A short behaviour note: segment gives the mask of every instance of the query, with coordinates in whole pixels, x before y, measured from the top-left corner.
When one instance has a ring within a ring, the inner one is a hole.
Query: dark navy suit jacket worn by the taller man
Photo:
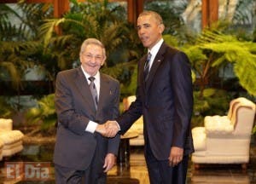
[[[154,157],[166,160],[171,147],[194,152],[190,129],[193,90],[188,57],[162,43],[154,58],[147,83],[143,68],[146,55],[138,63],[137,100],[117,122],[121,134],[143,115],[145,145],[150,143]]]

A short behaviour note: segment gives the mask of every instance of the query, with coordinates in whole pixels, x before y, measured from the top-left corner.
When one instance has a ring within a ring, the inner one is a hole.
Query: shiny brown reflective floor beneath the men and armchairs
[[[0,184],[33,184],[33,183],[55,183],[54,170],[51,163],[52,145],[30,145],[25,146],[19,154],[5,158],[0,161]],[[198,170],[193,164],[189,164],[187,184],[256,184],[256,144],[250,150],[250,163],[247,170],[241,170],[241,165],[201,165]],[[49,163],[49,180],[47,181],[22,181],[7,180],[6,163],[14,162],[46,162]],[[143,147],[131,147],[130,166],[113,167],[108,172],[108,184],[148,184],[148,172],[143,157]]]

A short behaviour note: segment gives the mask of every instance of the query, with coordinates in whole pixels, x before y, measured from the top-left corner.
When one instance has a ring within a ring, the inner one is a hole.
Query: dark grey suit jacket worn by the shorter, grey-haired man
[[[94,156],[96,146],[102,151],[102,164],[108,152],[117,155],[119,135],[108,139],[85,131],[89,120],[103,124],[119,115],[119,82],[103,73],[100,74],[100,80],[101,89],[96,110],[81,67],[58,73],[55,89],[58,116],[55,164],[74,170],[85,170]]]

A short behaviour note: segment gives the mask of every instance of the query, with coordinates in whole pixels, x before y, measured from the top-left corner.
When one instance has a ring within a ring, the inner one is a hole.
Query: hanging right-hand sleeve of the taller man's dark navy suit
[[[172,147],[184,147],[190,131],[193,89],[189,59],[183,52],[177,52],[173,56],[171,78],[175,104]]]

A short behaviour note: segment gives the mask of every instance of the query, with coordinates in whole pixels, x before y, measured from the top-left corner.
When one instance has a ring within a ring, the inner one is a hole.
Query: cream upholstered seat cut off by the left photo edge
[[[0,118],[0,160],[20,152],[23,137],[20,130],[13,130],[12,119]]]

